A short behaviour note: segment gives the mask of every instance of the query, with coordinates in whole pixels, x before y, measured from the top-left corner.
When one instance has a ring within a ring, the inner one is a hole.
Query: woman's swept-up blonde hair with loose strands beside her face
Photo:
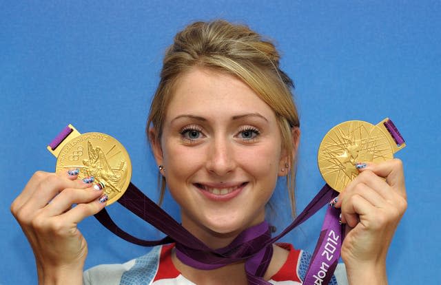
[[[160,142],[167,106],[172,100],[174,85],[178,78],[192,67],[206,67],[217,72],[226,72],[240,78],[276,114],[282,136],[282,149],[287,152],[289,173],[287,189],[291,210],[295,213],[294,184],[296,162],[292,131],[300,123],[296,105],[291,94],[294,83],[280,70],[280,55],[276,47],[260,34],[245,25],[234,25],[227,21],[196,22],[188,25],[174,37],[167,48],[161,70],[161,81],[154,94],[147,120],[147,134],[154,127],[151,141]],[[159,174],[163,201],[166,181]]]

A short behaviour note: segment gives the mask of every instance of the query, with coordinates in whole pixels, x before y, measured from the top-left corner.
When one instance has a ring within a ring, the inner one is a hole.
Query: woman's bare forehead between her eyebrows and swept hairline
[[[210,116],[274,112],[247,84],[235,76],[207,68],[193,68],[176,81],[167,116],[196,112]]]

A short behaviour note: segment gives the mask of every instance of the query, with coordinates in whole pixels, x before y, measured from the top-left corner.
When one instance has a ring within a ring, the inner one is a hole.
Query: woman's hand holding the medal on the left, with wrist
[[[37,171],[11,204],[34,251],[39,284],[82,283],[88,246],[76,225],[101,211],[107,196],[73,173]]]

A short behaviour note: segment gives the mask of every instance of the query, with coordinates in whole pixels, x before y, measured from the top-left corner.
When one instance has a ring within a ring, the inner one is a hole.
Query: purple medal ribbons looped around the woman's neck
[[[314,215],[316,211],[325,206],[325,204],[327,204],[337,195],[338,193],[334,191],[334,189],[325,184],[325,186],[322,187],[313,200],[309,202],[305,210],[303,210],[302,213],[300,213],[300,215],[298,215],[297,218],[276,237],[271,237],[269,224],[264,221],[250,227],[249,229],[246,229],[240,233],[231,244],[222,249],[210,249],[209,246],[205,245],[203,242],[201,242],[201,240],[198,240],[198,238],[192,235],[192,233],[189,233],[189,231],[187,231],[181,224],[176,222],[176,220],[161,209],[161,207],[158,207],[155,202],[145,196],[145,194],[136,188],[136,186],[134,186],[132,183],[130,183],[127,191],[125,191],[124,195],[118,200],[118,202],[123,205],[123,207],[139,216],[139,218],[152,224],[152,226],[154,226],[156,229],[165,233],[167,236],[165,236],[162,240],[153,241],[142,240],[138,237],[134,237],[117,226],[105,209],[97,213],[95,218],[99,220],[103,226],[112,231],[112,233],[123,238],[123,240],[127,240],[127,242],[132,242],[141,246],[156,246],[175,242],[176,257],[178,257],[178,259],[184,264],[194,268],[210,270],[220,268],[227,264],[245,261],[245,271],[247,274],[248,283],[266,285],[270,283],[263,279],[263,276],[267,271],[269,262],[271,261],[271,257],[273,255],[272,244],[289,233],[289,231],[294,229],[296,226],[302,224],[302,222],[305,222],[305,220],[311,217],[311,215]],[[340,211],[338,209],[334,210],[334,212]],[[327,213],[327,215],[329,214]],[[338,213],[334,213],[334,215],[331,215],[329,219],[334,220],[334,223],[331,223],[331,226],[333,226],[331,231],[337,233],[341,237],[341,226],[335,226],[336,222],[338,223]],[[342,238],[340,238],[340,244],[341,240]],[[325,240],[322,239],[322,242],[325,242]],[[322,244],[317,244],[316,251],[317,248],[320,248],[321,246]],[[326,244],[323,246],[326,246]],[[340,248],[338,248],[338,253],[334,255],[334,259],[336,257],[337,261],[338,257],[340,256],[339,253]],[[315,265],[312,270],[310,265],[308,272],[311,272],[311,274],[320,273],[322,275],[322,271],[320,271],[322,262],[318,261],[314,263],[314,258],[323,260],[325,257],[318,254],[314,255],[313,262],[311,262],[311,264],[319,265]],[[335,266],[334,268],[327,268],[326,276],[332,276],[334,273],[333,269],[335,269]],[[331,277],[329,277],[329,279],[330,278]]]

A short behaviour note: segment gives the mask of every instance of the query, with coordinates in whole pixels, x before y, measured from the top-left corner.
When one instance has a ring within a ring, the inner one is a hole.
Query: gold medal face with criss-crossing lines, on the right
[[[375,125],[350,120],[333,127],[318,149],[323,179],[338,192],[358,175],[356,162],[381,162],[393,158],[386,134]]]

